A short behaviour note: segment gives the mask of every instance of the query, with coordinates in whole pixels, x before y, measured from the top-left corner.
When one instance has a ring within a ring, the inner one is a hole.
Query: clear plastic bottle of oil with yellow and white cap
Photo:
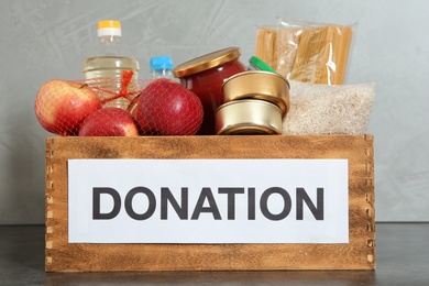
[[[128,109],[138,91],[139,62],[121,42],[119,21],[100,21],[97,30],[97,50],[84,62],[86,82],[98,90],[103,107]]]

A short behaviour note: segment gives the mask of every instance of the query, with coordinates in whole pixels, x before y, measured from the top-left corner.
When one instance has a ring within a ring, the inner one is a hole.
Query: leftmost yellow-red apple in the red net
[[[53,79],[35,99],[35,114],[42,127],[57,135],[74,135],[86,117],[101,108],[97,92],[86,85]]]

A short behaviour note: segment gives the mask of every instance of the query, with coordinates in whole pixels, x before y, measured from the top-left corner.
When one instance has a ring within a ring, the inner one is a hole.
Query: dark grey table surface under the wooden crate
[[[429,285],[429,223],[376,223],[375,271],[45,273],[44,232],[0,227],[0,285]]]

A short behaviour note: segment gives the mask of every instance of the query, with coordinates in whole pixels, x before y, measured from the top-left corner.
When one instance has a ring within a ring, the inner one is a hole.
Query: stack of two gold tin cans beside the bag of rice
[[[216,132],[233,134],[282,134],[289,111],[289,82],[265,70],[248,70],[222,85],[223,105],[216,111]]]

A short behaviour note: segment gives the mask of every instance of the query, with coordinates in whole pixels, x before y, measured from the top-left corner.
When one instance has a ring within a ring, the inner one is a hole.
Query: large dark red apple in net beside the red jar
[[[194,135],[202,123],[200,99],[180,84],[153,80],[142,90],[136,120],[144,134]]]

